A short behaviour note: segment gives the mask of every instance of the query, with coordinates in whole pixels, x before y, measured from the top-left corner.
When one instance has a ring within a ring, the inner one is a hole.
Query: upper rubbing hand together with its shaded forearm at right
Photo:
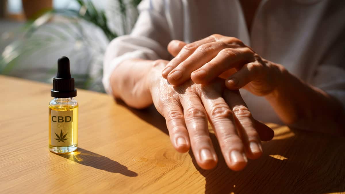
[[[345,111],[337,99],[290,74],[284,66],[260,57],[237,38],[214,34],[188,44],[172,40],[168,51],[175,58],[162,76],[172,85],[189,79],[208,84],[224,78],[230,90],[244,88],[264,96],[289,126],[345,134]]]

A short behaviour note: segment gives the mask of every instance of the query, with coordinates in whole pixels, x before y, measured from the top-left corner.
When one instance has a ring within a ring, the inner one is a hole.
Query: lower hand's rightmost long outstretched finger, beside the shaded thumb
[[[262,129],[256,128],[257,122],[248,110],[238,90],[225,90],[224,98],[234,112],[236,124],[246,148],[247,157],[251,159],[259,158],[263,153],[263,149],[258,130]],[[272,129],[268,128],[268,130]]]

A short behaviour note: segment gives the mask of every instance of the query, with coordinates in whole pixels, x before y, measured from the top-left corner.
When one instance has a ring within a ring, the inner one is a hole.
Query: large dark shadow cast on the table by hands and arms
[[[169,135],[165,119],[154,106],[137,110],[118,101],[142,120]],[[216,136],[210,133],[218,155],[216,168],[200,168],[205,193],[334,193],[345,191],[345,139],[275,127],[275,139],[263,143],[264,154],[250,160],[243,171],[234,172],[225,163]],[[279,132],[279,133],[277,133]],[[282,149],[284,148],[284,149]]]

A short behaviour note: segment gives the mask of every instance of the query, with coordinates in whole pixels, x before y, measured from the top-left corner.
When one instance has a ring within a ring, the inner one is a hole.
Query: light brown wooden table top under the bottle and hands
[[[206,171],[191,152],[174,150],[164,118],[153,107],[135,110],[81,89],[79,149],[53,154],[51,87],[0,76],[0,193],[345,192],[343,137],[270,124],[276,135],[264,143],[260,159],[233,172],[219,157],[218,166]]]

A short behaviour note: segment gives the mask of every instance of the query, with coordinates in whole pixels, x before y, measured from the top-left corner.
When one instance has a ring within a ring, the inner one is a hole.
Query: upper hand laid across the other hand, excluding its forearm
[[[172,40],[168,50],[175,58],[162,71],[170,84],[180,85],[190,78],[196,84],[224,78],[229,89],[244,87],[257,96],[271,93],[279,84],[282,65],[263,59],[234,37],[211,35],[186,44]]]

